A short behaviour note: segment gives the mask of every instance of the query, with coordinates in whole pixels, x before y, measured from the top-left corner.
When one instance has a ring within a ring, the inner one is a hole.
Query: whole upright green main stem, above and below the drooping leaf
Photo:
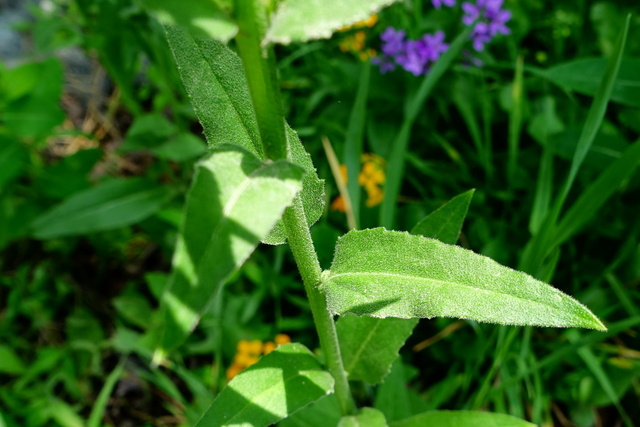
[[[273,160],[288,158],[289,150],[273,49],[262,45],[268,22],[263,1],[241,0],[236,1],[235,5],[239,27],[236,42],[249,83],[264,153]],[[345,415],[352,414],[355,412],[355,404],[342,363],[333,316],[329,313],[324,295],[318,289],[322,269],[313,247],[299,195],[295,198],[293,206],[287,208],[282,219],[287,230],[289,246],[309,298],[320,346],[329,372],[335,380],[335,393],[340,409]]]

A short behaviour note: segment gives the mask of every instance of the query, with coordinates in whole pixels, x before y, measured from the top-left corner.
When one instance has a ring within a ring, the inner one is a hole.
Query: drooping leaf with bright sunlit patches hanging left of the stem
[[[162,299],[165,352],[193,330],[219,287],[280,219],[303,173],[284,160],[262,163],[236,146],[216,148],[198,163]]]

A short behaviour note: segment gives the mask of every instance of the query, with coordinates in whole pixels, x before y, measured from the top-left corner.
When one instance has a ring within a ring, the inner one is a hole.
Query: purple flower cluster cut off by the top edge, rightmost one
[[[484,45],[498,34],[510,34],[505,25],[511,19],[511,12],[502,9],[504,0],[477,0],[476,4],[464,2],[462,22],[469,26],[476,22],[471,33],[473,49],[484,50]]]

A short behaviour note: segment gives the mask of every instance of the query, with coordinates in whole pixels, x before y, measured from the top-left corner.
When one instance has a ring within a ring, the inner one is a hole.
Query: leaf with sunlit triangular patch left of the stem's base
[[[333,392],[333,377],[302,344],[287,344],[239,373],[196,427],[268,426]]]

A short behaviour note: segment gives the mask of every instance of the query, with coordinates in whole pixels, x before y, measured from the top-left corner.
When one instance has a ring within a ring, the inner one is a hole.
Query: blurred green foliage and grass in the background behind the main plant
[[[149,328],[184,195],[207,147],[164,30],[146,6],[0,3],[10,41],[0,43],[0,425],[192,425],[239,355],[266,353],[263,343],[282,333],[317,348],[293,260],[286,248],[263,245],[220,291],[224,307],[203,314],[170,364],[149,367]],[[460,244],[515,268],[562,186],[629,12],[612,102],[567,206],[583,193],[596,203],[603,193],[596,177],[638,140],[640,21],[631,1],[505,6],[511,35],[487,47],[483,67],[456,63],[419,105],[400,153],[394,228],[411,230],[475,188]],[[381,225],[384,202],[367,201],[374,177],[394,173],[388,162],[422,81],[402,70],[380,74],[369,49],[379,50],[388,26],[411,38],[445,30],[451,42],[458,21],[430,2],[405,1],[373,25],[277,48],[286,116],[327,181],[327,208],[312,228],[323,268],[348,226],[331,208],[336,174],[322,137],[358,194],[359,228]],[[354,390],[357,399],[388,421],[440,408],[487,409],[540,425],[633,425],[640,419],[636,165],[596,215],[581,215],[587,203],[568,216],[570,232],[549,273],[607,333],[422,320],[385,381]],[[365,167],[368,181],[357,185]],[[256,340],[259,350],[240,351]],[[407,387],[398,393],[398,384]],[[331,405],[324,399],[283,424],[331,413]]]

